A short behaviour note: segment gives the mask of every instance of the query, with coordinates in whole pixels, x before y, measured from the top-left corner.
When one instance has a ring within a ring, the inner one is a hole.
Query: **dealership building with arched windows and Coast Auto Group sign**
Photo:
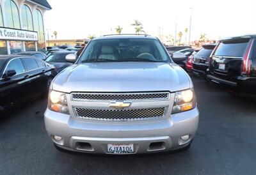
[[[46,0],[0,0],[0,54],[44,50]]]

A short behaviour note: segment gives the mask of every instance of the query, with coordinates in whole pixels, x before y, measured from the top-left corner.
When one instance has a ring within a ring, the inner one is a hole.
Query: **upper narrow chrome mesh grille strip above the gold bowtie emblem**
[[[72,93],[74,101],[168,100],[170,93]]]

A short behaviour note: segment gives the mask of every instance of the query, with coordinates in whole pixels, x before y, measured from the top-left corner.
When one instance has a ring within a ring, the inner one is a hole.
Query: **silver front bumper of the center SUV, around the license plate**
[[[134,153],[156,153],[188,146],[195,136],[198,109],[172,114],[169,118],[137,122],[79,121],[47,109],[45,128],[57,146],[70,151],[108,153],[108,144],[134,144]],[[60,142],[53,135],[62,137]],[[189,135],[188,141],[180,139]],[[161,143],[158,146],[152,143]]]

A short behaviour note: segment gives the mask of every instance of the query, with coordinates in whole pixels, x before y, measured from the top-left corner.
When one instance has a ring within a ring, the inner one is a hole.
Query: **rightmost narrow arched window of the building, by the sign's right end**
[[[35,31],[38,32],[38,41],[44,41],[44,23],[43,23],[43,17],[39,10],[35,11]]]

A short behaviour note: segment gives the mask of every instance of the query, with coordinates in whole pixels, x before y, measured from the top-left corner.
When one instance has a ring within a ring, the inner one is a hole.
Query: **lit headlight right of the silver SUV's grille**
[[[196,101],[193,89],[176,92],[172,108],[172,114],[193,109],[195,108],[195,106]]]

